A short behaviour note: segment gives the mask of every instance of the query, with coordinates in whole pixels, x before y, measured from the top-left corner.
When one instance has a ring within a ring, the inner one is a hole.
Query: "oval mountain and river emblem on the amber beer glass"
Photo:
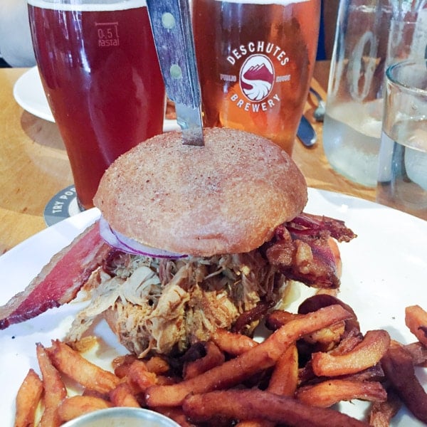
[[[240,86],[251,101],[262,101],[270,95],[274,83],[274,68],[265,55],[251,55],[240,70]]]

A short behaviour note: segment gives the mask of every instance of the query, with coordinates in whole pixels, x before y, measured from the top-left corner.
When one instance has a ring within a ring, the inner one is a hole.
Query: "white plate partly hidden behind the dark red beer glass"
[[[43,85],[41,84],[37,67],[30,68],[16,80],[14,85],[14,98],[24,110],[31,112],[31,114],[41,119],[55,122],[51,107],[49,107],[48,100],[43,90]],[[177,129],[179,129],[179,126],[176,120],[164,120],[163,132]]]

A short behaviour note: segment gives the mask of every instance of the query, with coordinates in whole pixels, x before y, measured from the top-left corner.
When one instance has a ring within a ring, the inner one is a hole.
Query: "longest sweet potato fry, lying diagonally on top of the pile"
[[[264,342],[186,381],[172,386],[152,386],[147,389],[148,406],[178,406],[187,394],[224,389],[238,384],[258,371],[272,367],[290,344],[305,334],[327,327],[349,317],[340,305],[330,305],[317,312],[301,315],[270,335]]]

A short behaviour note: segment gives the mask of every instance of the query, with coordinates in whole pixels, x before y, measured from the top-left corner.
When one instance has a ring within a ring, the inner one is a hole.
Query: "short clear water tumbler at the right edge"
[[[386,70],[376,199],[427,220],[427,60]]]

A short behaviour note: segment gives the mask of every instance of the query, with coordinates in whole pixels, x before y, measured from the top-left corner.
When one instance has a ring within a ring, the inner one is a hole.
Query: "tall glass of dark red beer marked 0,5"
[[[144,0],[28,0],[43,88],[80,208],[105,169],[162,132],[164,85]]]

